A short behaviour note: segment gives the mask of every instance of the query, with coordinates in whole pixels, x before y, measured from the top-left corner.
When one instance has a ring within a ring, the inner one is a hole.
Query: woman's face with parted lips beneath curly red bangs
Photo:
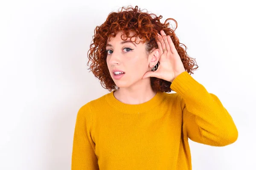
[[[141,39],[137,37],[136,42],[140,42],[139,44],[131,42],[135,37],[123,41],[121,34],[122,32],[119,32],[107,42],[107,64],[116,86],[128,88],[142,80],[143,75],[151,69],[145,44],[140,42]]]

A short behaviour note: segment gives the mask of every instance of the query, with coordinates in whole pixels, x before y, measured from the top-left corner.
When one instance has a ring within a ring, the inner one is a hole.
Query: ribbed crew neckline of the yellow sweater
[[[144,102],[141,104],[126,104],[126,103],[120,102],[115,98],[114,91],[107,94],[105,96],[105,99],[112,108],[123,113],[145,112],[154,108],[157,105],[160,105],[160,103],[163,101],[163,92],[157,91],[157,94],[147,102]]]

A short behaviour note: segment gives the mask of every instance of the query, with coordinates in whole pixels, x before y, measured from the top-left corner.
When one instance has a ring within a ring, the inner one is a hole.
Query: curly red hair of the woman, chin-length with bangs
[[[111,12],[101,26],[96,26],[93,41],[87,53],[89,59],[87,65],[89,65],[89,62],[92,62],[89,69],[99,79],[103,88],[108,89],[108,91],[118,89],[108,70],[106,44],[108,38],[115,37],[119,31],[123,32],[122,35],[126,35],[126,39],[139,36],[142,39],[141,42],[146,44],[146,51],[150,52],[158,48],[156,41],[157,33],[160,34],[160,31],[163,30],[166,35],[171,36],[185,70],[190,74],[194,74],[193,70],[196,70],[198,65],[195,64],[195,59],[187,55],[186,46],[180,43],[175,35],[177,21],[168,18],[164,23],[161,23],[161,18],[162,15],[157,17],[156,14],[149,14],[148,11],[143,12],[143,10],[138,9],[138,6],[135,6],[135,8],[128,6],[127,8],[122,7],[121,11]],[[168,20],[173,20],[176,23],[174,30],[169,28]],[[135,34],[129,36],[130,32]],[[185,46],[185,49],[180,44]],[[194,66],[196,67],[193,68]],[[151,87],[155,91],[171,92],[171,84],[171,82],[166,80],[151,77]]]

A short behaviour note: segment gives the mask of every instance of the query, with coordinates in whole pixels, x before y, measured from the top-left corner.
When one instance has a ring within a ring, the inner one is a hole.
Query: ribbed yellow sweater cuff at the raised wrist
[[[197,82],[187,71],[179,74],[172,82],[170,88],[181,96],[186,94],[190,88],[200,88],[201,84]]]

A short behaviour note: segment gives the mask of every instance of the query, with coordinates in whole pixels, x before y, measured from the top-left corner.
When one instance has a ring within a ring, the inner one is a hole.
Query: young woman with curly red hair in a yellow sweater
[[[188,139],[238,138],[218,97],[189,74],[198,66],[169,28],[175,20],[161,18],[129,6],[96,27],[90,70],[110,93],[79,109],[72,170],[191,170]]]

